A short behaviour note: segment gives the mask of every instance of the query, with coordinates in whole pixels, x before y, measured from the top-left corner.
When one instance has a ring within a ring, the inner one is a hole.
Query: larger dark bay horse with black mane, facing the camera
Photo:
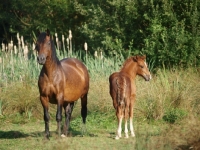
[[[76,58],[64,58],[59,61],[50,31],[39,33],[36,42],[37,61],[43,65],[38,87],[40,101],[44,111],[45,137],[49,139],[49,102],[57,104],[57,131],[61,135],[62,108],[65,111],[65,123],[62,137],[67,136],[74,102],[81,98],[82,121],[86,123],[89,74],[86,66]]]

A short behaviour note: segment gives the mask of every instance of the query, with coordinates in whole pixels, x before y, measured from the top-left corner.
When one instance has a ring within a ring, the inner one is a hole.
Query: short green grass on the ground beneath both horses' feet
[[[100,118],[101,119],[97,119]],[[71,121],[70,135],[59,138],[55,132],[56,122],[50,123],[50,141],[44,139],[44,123],[42,120],[29,121],[22,124],[1,122],[1,149],[175,149],[187,147],[190,142],[198,140],[199,123],[190,120],[187,125],[170,125],[163,122],[147,123],[134,121],[135,138],[114,140],[115,119],[108,123],[102,114],[89,114],[87,132],[82,136],[80,117]],[[99,124],[99,121],[103,121]],[[188,120],[187,120],[188,121]],[[185,121],[184,121],[185,122]],[[197,132],[198,131],[198,132]]]

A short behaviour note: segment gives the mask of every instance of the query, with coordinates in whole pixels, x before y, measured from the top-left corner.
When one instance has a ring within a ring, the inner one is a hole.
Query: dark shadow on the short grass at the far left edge
[[[0,139],[16,139],[28,137],[28,134],[24,134],[20,131],[0,131]]]

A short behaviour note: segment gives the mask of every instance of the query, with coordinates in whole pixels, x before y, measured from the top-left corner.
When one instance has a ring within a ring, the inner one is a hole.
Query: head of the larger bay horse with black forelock
[[[47,29],[46,32],[39,32],[37,43],[35,47],[38,52],[37,61],[40,65],[44,65],[47,58],[51,56],[51,38],[50,32]]]

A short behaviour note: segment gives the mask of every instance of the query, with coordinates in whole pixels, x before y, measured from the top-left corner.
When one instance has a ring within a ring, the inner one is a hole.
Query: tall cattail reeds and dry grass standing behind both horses
[[[116,55],[113,58],[106,58],[102,51],[98,51],[99,55],[97,55],[97,51],[94,56],[88,55],[87,43],[84,43],[85,51],[74,51],[72,44],[70,44],[72,35],[66,39],[66,43],[62,36],[63,44],[59,44],[61,42],[59,42],[57,35],[55,37],[59,59],[76,57],[86,64],[91,78],[91,99],[96,99],[98,103],[98,99],[101,99],[103,94],[105,94],[104,100],[110,99],[107,87],[108,77],[112,72],[119,70],[125,60],[123,56]],[[7,46],[10,48],[6,50],[6,46],[2,44],[0,50],[1,113],[6,114],[6,107],[12,104],[15,109],[18,108],[19,112],[28,115],[28,112],[32,111],[34,107],[29,102],[35,102],[37,98],[35,96],[37,95],[37,78],[41,66],[38,65],[36,60],[34,44],[25,48],[23,37],[19,38],[19,35],[17,35],[17,39],[18,49],[14,48],[15,46],[11,42]],[[61,47],[64,50],[60,50]],[[27,49],[29,49],[28,52]],[[151,69],[153,68],[152,65]],[[200,109],[200,95],[198,94],[200,84],[197,82],[199,74],[196,68],[185,70],[158,69],[153,74],[152,81],[148,83],[144,83],[141,78],[138,78],[136,115],[150,120],[164,119],[170,123],[186,117],[190,112],[198,115]],[[100,85],[99,83],[103,84]],[[98,91],[98,89],[101,90]],[[11,102],[8,102],[9,100]],[[105,104],[105,102],[99,104]],[[99,104],[96,105],[99,106]],[[18,105],[19,107],[16,107]],[[100,108],[104,107],[106,105],[100,106]]]

